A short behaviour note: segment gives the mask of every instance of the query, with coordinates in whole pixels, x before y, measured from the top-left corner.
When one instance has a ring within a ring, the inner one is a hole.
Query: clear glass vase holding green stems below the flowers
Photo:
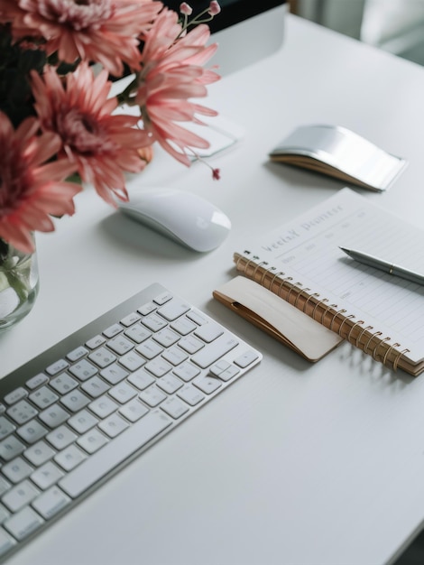
[[[29,313],[38,290],[36,252],[24,253],[0,238],[0,331]]]

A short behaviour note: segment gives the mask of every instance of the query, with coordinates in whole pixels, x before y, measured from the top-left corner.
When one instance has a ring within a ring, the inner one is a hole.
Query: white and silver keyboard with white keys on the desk
[[[0,380],[0,560],[255,366],[152,284]]]

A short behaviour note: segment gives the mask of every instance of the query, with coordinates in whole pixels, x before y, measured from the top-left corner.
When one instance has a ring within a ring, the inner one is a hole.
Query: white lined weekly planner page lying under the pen
[[[340,247],[424,273],[424,231],[345,188],[254,242],[248,256],[310,295],[355,316],[380,339],[424,357],[424,286],[349,258]],[[244,254],[241,254],[244,255]],[[245,255],[244,255],[245,256]]]

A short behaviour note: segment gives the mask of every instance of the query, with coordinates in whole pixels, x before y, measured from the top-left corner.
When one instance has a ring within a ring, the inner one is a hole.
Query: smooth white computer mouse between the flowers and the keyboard
[[[130,218],[195,251],[217,248],[231,229],[222,210],[183,190],[143,190],[118,207]]]

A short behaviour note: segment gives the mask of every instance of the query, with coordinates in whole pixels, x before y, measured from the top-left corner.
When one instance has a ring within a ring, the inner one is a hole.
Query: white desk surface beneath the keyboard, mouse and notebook
[[[38,236],[41,292],[0,337],[0,376],[154,281],[264,357],[11,565],[379,565],[409,542],[424,519],[424,377],[393,374],[347,344],[309,365],[211,292],[234,276],[233,251],[251,236],[343,186],[268,162],[302,123],[345,125],[406,157],[390,191],[361,192],[421,224],[423,92],[424,69],[290,15],[281,52],[210,88],[207,104],[246,130],[213,161],[222,180],[157,153],[129,183],[212,200],[233,221],[224,245],[185,250],[92,190],[73,218]]]

